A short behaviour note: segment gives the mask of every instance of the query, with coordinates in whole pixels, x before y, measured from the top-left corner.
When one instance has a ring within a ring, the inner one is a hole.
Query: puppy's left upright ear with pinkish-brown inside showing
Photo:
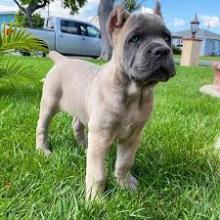
[[[116,29],[122,28],[129,16],[130,14],[124,9],[123,6],[117,6],[114,8],[108,20],[107,28],[109,34],[112,35]]]

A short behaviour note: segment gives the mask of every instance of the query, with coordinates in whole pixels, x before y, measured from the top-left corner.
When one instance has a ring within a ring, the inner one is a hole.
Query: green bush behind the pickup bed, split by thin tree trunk
[[[32,16],[33,28],[42,28],[44,25],[44,18],[39,13]],[[17,27],[29,27],[27,17],[19,11],[15,16],[15,24]]]

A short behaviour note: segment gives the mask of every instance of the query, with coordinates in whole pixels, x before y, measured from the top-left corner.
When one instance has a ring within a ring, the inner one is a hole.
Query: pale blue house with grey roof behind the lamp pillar
[[[172,34],[172,44],[178,48],[182,47],[183,38],[191,37],[191,30],[179,31]],[[202,40],[201,56],[220,56],[220,35],[209,30],[199,29],[196,37]]]

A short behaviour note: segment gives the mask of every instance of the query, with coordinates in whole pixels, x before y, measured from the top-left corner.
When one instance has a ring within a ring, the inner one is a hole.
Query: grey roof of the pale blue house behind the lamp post
[[[173,37],[191,37],[192,33],[191,30],[184,30],[173,33]],[[205,29],[199,29],[196,33],[196,37],[201,39],[212,39],[212,40],[220,40],[220,34],[216,34],[214,32],[205,30]]]

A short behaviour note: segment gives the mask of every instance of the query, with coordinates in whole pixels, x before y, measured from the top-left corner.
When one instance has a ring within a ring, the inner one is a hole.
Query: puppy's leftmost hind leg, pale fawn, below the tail
[[[48,145],[48,127],[51,119],[57,112],[55,99],[42,97],[40,105],[40,116],[36,131],[36,149],[42,151],[46,156],[51,154]]]

